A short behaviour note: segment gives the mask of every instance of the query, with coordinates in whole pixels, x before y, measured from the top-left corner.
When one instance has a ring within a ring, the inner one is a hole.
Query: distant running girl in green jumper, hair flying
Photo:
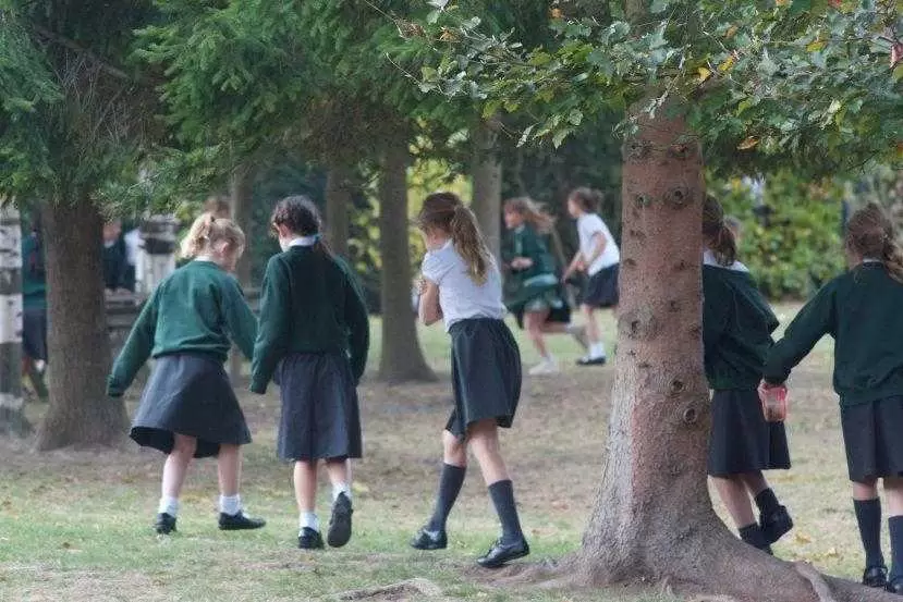
[[[571,307],[564,299],[554,257],[548,241],[553,235],[554,219],[529,198],[512,198],[504,204],[508,236],[502,258],[508,269],[505,306],[526,328],[541,358],[530,374],[559,371],[558,361],[546,346],[547,333],[570,332],[586,347],[586,330],[571,328]]]

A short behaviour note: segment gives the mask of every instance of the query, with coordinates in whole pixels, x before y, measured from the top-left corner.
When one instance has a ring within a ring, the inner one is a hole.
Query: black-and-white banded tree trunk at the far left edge
[[[3,199],[0,199],[2,201]],[[22,397],[22,223],[0,204],[0,434],[27,434]]]

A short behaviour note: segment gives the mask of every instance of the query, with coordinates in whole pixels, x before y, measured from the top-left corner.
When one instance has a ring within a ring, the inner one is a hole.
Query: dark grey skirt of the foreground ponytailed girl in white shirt
[[[464,438],[467,428],[495,418],[510,428],[521,398],[521,351],[501,320],[471,319],[452,324],[454,409],[446,430]]]

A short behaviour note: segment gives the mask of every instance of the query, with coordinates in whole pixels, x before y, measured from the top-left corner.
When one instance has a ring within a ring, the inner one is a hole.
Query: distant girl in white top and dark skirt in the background
[[[586,317],[586,334],[589,353],[579,359],[581,366],[599,366],[606,363],[606,348],[594,311],[598,308],[618,307],[618,267],[621,253],[602,219],[596,213],[602,194],[590,188],[577,188],[568,196],[568,212],[577,220],[579,248],[564,271],[563,280],[574,272],[586,272],[581,310]]]

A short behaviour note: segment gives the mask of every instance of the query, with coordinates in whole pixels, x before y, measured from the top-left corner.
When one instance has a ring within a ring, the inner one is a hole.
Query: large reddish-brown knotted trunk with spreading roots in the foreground
[[[735,601],[886,599],[733,537],[706,487],[700,151],[685,123],[639,116],[624,146],[619,348],[602,486],[572,568],[584,583],[668,582]],[[830,588],[827,585],[830,582]],[[814,588],[823,588],[816,593]],[[887,598],[892,600],[892,598]]]

